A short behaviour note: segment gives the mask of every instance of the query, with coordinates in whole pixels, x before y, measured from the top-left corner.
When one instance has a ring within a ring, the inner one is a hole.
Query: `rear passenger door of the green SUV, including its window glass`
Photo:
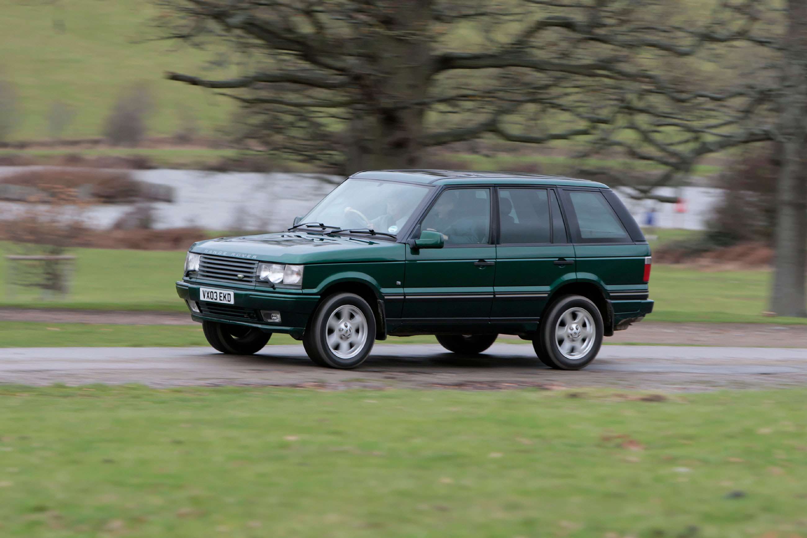
[[[500,187],[491,322],[537,321],[550,290],[575,278],[575,249],[551,188]]]

